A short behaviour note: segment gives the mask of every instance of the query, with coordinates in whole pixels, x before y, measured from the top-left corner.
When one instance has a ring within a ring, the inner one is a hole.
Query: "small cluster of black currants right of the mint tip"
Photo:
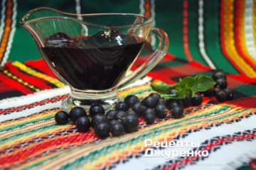
[[[233,91],[228,89],[227,77],[223,71],[215,71],[213,73],[213,79],[216,82],[213,94],[218,101],[229,101],[233,99]],[[207,96],[207,95],[206,95]]]

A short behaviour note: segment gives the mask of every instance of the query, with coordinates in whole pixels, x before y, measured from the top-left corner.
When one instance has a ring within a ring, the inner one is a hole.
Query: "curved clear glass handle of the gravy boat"
[[[124,79],[119,83],[118,89],[122,89],[124,86],[144,77],[144,75],[153,69],[166,54],[169,47],[168,35],[161,28],[152,28],[151,34],[154,34],[156,38],[159,39],[159,46],[142,65],[125,75]]]

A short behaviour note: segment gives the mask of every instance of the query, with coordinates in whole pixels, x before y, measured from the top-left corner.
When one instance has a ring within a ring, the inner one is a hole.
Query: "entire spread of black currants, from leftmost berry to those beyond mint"
[[[137,96],[129,95],[124,101],[116,103],[114,108],[105,112],[105,108],[98,103],[92,104],[87,115],[85,109],[75,107],[70,113],[59,111],[55,114],[55,121],[58,125],[72,123],[76,125],[78,132],[87,132],[93,128],[97,137],[105,138],[110,134],[114,137],[125,133],[135,132],[139,126],[139,118],[142,118],[147,125],[155,122],[156,118],[164,119],[167,113],[172,118],[182,118],[184,108],[189,106],[200,106],[203,102],[202,96],[213,96],[223,102],[233,98],[233,91],[227,89],[226,75],[222,71],[213,74],[215,88],[203,94],[186,96],[184,99],[165,100],[157,93],[149,94],[142,101]],[[176,94],[176,89],[170,89],[168,94]]]

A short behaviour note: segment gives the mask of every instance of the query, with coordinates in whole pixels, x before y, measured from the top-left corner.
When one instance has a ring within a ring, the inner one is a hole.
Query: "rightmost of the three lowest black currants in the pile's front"
[[[135,132],[138,129],[139,118],[137,115],[127,115],[122,120],[125,132]]]

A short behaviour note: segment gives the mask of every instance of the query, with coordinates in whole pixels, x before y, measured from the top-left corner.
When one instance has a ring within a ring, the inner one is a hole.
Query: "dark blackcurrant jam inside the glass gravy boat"
[[[55,33],[40,50],[68,83],[80,90],[105,90],[118,84],[142,49],[136,35],[101,31],[69,38]]]

